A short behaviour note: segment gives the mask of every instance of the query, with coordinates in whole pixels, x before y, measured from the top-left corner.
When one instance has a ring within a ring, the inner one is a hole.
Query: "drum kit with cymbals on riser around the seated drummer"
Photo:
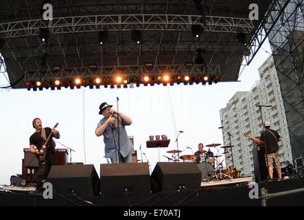
[[[208,144],[207,147],[216,147],[220,146],[221,144]],[[231,148],[233,146],[221,146],[224,148],[224,153],[227,153],[226,148]],[[218,150],[218,149],[217,149]],[[221,179],[233,179],[240,177],[240,171],[237,171],[235,168],[223,168],[222,162],[220,162],[220,157],[222,155],[213,155],[213,152],[210,151],[203,151],[204,152],[204,161],[198,162],[197,155],[182,155],[179,158],[176,158],[176,154],[182,153],[183,151],[172,150],[167,151],[167,153],[171,153],[172,157],[166,157],[169,161],[172,162],[179,162],[179,159],[183,159],[183,162],[196,162],[198,168],[202,172],[202,181],[213,181],[213,180],[221,180]],[[219,150],[218,150],[219,152]],[[217,166],[215,166],[217,164]]]

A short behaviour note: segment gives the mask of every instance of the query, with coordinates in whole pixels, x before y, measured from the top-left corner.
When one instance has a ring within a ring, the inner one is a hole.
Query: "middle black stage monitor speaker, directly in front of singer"
[[[148,163],[100,164],[100,183],[104,196],[149,194]]]

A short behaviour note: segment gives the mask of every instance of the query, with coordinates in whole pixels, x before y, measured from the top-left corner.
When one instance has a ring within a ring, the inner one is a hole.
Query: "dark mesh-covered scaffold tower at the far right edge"
[[[277,1],[277,7],[282,2]],[[288,1],[270,32],[294,159],[304,154],[304,3]],[[272,12],[276,16],[277,12]],[[269,23],[272,23],[270,19]],[[268,28],[266,26],[266,28]]]

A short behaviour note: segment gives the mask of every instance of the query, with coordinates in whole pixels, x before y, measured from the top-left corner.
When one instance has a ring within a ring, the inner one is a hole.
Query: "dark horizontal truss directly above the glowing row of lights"
[[[169,74],[170,76],[216,76],[220,72],[219,65],[153,65],[151,67],[145,65],[136,66],[113,66],[113,67],[86,67],[86,68],[65,68],[65,69],[43,69],[25,72],[25,81],[34,82],[36,80],[51,81],[56,79],[71,79],[75,77],[95,78],[112,78],[113,76],[139,77],[162,76]]]

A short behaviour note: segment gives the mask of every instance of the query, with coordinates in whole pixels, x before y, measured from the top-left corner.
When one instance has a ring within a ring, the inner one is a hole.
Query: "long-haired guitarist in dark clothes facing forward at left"
[[[41,154],[40,149],[43,148],[43,144],[45,144],[49,134],[52,133],[51,137],[59,139],[60,133],[56,129],[51,129],[49,127],[43,128],[40,118],[35,118],[33,120],[33,127],[36,131],[30,137],[30,152],[36,154],[36,157],[38,158]],[[49,139],[46,146],[47,156],[45,157],[45,162],[39,161],[36,190],[43,190],[43,179],[47,179],[51,166],[56,165],[55,143],[52,138]]]

